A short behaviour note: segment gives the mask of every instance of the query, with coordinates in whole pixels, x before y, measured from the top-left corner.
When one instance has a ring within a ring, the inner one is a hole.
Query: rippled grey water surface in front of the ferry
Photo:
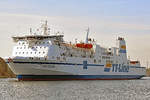
[[[0,79],[0,100],[150,100],[150,78],[30,82]]]

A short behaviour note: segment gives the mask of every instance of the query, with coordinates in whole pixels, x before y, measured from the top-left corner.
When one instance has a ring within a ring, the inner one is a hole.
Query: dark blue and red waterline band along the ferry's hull
[[[133,80],[143,75],[18,75],[19,81],[61,81],[61,80]]]

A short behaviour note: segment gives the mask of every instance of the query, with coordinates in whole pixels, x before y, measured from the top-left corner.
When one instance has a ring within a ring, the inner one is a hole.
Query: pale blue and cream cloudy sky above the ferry
[[[116,38],[127,42],[128,56],[150,62],[150,0],[0,0],[0,56],[11,56],[11,36],[29,33],[41,20],[66,41],[90,37],[104,47],[116,46]]]

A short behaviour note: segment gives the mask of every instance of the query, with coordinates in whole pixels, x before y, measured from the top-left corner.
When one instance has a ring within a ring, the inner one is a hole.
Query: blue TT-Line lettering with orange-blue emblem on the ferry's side
[[[104,72],[129,72],[129,66],[112,64],[111,67],[105,67]]]

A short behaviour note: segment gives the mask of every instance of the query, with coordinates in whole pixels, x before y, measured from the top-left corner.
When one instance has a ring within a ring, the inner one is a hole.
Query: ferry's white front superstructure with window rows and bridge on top
[[[16,46],[13,48],[13,57],[47,58],[49,47],[55,42],[63,42],[63,35],[36,35],[12,37]]]

